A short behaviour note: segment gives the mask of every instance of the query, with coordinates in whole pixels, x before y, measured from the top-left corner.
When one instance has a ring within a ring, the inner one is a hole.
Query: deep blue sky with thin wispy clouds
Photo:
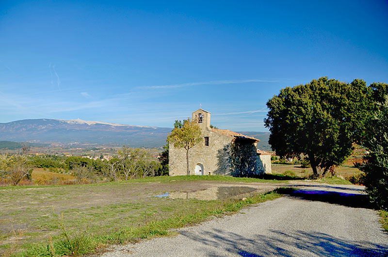
[[[0,2],[0,122],[268,131],[266,102],[328,76],[388,82],[388,1]]]

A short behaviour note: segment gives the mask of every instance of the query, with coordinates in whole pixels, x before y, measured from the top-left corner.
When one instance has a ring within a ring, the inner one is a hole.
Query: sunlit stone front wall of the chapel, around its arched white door
[[[202,138],[209,137],[209,146],[204,145],[204,140],[189,150],[190,175],[195,174],[195,166],[201,163],[204,175],[230,176],[231,172],[231,138],[212,131],[210,128],[202,129]],[[186,150],[170,145],[169,150],[170,176],[186,175]]]

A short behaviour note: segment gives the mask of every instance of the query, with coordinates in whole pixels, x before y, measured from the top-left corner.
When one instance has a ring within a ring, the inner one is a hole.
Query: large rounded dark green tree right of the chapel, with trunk
[[[325,176],[364,137],[373,108],[371,94],[371,87],[358,79],[345,83],[322,77],[283,88],[267,102],[269,144],[280,156],[307,154],[314,175]]]

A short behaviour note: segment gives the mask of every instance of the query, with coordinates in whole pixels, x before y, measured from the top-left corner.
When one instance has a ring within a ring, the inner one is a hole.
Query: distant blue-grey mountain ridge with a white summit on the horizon
[[[159,147],[166,144],[167,134],[171,130],[172,128],[133,126],[81,119],[29,119],[0,123],[0,140]],[[242,131],[239,133],[259,139],[259,149],[271,150],[268,145],[269,132]]]

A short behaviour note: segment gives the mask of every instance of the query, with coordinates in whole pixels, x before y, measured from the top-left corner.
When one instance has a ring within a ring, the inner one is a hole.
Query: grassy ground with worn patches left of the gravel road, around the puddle
[[[47,251],[51,245],[56,255],[76,255],[74,249],[73,254],[64,252],[66,236],[72,243],[65,245],[80,244],[75,251],[86,253],[109,243],[170,234],[169,227],[200,222],[280,196],[251,195],[244,201],[153,197],[166,191],[193,192],[247,182],[271,185],[279,181],[182,176],[86,185],[0,187],[0,255],[32,257],[46,252],[50,256]],[[81,250],[82,247],[86,248]]]

